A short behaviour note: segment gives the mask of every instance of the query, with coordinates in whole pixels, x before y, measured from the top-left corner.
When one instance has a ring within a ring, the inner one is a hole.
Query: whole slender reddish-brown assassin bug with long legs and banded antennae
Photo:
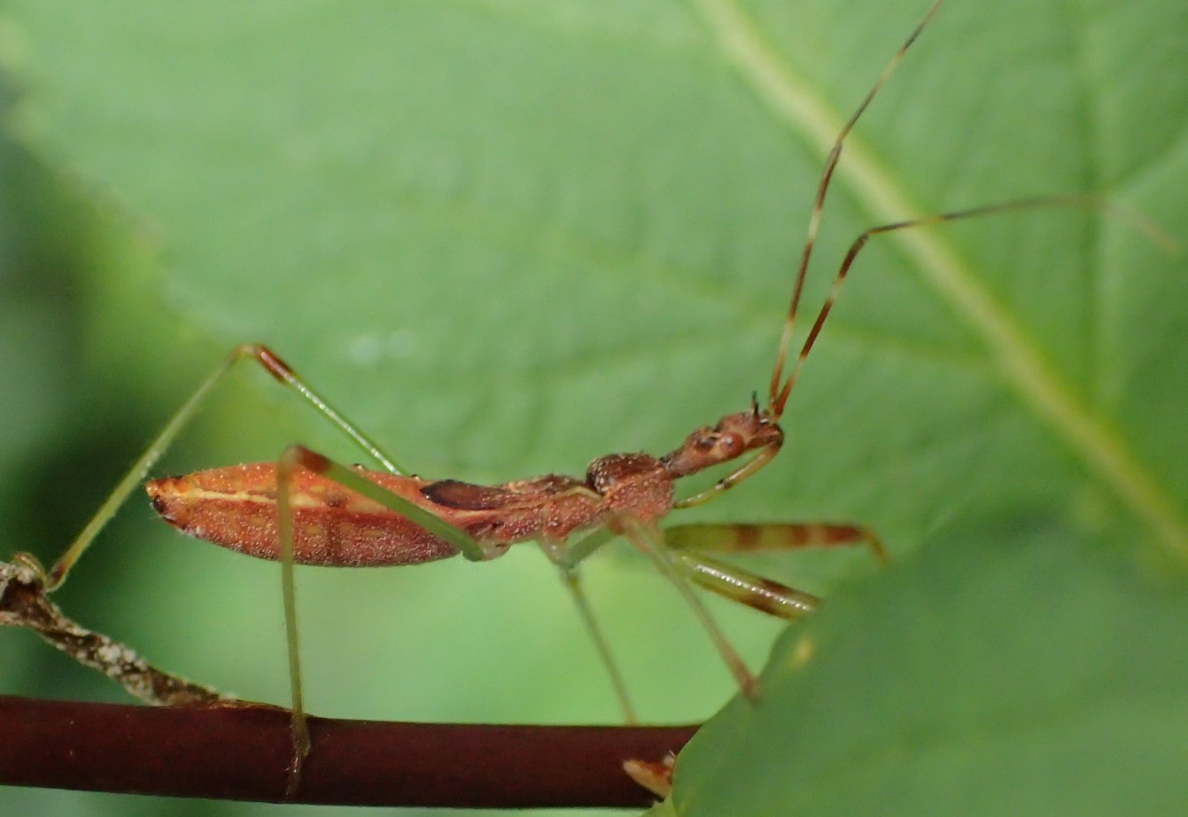
[[[921,27],[923,25],[922,23]],[[912,39],[914,37],[915,34]],[[906,48],[905,45],[903,50]],[[898,56],[902,56],[903,50]],[[296,616],[289,576],[295,560],[309,564],[407,564],[456,553],[473,560],[486,560],[501,555],[514,542],[542,539],[545,553],[561,569],[565,585],[574,594],[605,663],[612,667],[611,677],[625,712],[631,714],[625,685],[620,673],[613,669],[605,639],[593,625],[576,572],[589,553],[613,534],[623,534],[647,553],[662,571],[674,577],[676,587],[690,600],[703,620],[739,686],[754,695],[753,677],[704,614],[700,602],[689,591],[688,583],[691,581],[712,591],[783,616],[813,609],[816,600],[740,569],[721,565],[702,550],[846,545],[862,542],[878,547],[877,539],[861,525],[848,524],[684,526],[662,532],[657,522],[671,509],[695,506],[721,495],[757,473],[779,451],[783,442],[781,418],[801,366],[808,357],[836,294],[830,294],[817,312],[803,343],[794,344],[794,323],[813,249],[813,236],[816,234],[842,140],[883,80],[876,84],[839,135],[836,147],[827,162],[816,195],[810,238],[795,279],[791,305],[764,405],[752,400],[748,407],[723,416],[713,426],[699,429],[682,444],[661,456],[621,454],[601,457],[588,469],[586,477],[546,475],[498,486],[422,480],[399,468],[394,460],[346,420],[279,356],[263,346],[244,346],[183,406],[138,461],[118,486],[112,500],[84,530],[77,544],[50,570],[50,583],[56,585],[64,581],[70,566],[97,530],[143,481],[225,373],[238,361],[255,361],[278,381],[304,397],[379,462],[383,469],[360,471],[330,462],[307,449],[293,448],[277,463],[232,467],[154,481],[150,484],[150,493],[158,509],[183,530],[257,556],[282,560],[286,572],[287,620],[292,632]],[[835,279],[835,290],[870,235],[990,210],[991,208],[982,208],[889,224],[864,234],[842,264]],[[726,463],[741,464],[735,466],[713,487],[676,499],[674,483],[677,480]],[[296,650],[291,654],[295,663],[293,709],[299,739],[305,742]]]

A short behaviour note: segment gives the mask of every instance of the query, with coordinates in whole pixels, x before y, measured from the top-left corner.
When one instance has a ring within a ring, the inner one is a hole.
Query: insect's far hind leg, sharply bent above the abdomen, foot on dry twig
[[[128,495],[144,481],[148,470],[157,464],[182,429],[194,418],[214,387],[241,360],[255,361],[280,384],[297,392],[315,411],[330,420],[331,424],[337,426],[342,433],[371,455],[386,470],[393,474],[403,473],[399,466],[380,450],[379,445],[372,442],[367,435],[327,403],[287,363],[280,360],[276,353],[260,343],[244,343],[232,349],[222,363],[198,386],[197,391],[182,405],[177,413],[170,418],[160,433],[148,444],[145,452],[137,458],[132,468],[128,469],[128,473],[124,475],[124,479],[119,481],[108,498],[103,500],[103,504],[99,507],[95,515],[91,517],[90,521],[87,522],[87,526],[83,527],[53,566],[45,572],[44,583],[46,590],[56,590],[62,585],[74,564],[90,546],[90,543],[95,540],[95,537],[99,536],[107,522],[110,521],[112,517],[115,515],[115,512],[124,505]]]

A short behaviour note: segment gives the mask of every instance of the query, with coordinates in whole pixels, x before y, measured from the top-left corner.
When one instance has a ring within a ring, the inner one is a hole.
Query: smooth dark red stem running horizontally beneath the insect
[[[286,802],[289,712],[0,696],[0,785]],[[386,723],[311,717],[289,802],[453,808],[645,806],[623,772],[696,727]]]

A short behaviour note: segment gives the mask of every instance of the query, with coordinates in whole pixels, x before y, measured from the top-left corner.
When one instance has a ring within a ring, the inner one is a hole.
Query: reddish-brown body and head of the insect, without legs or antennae
[[[674,505],[674,481],[754,448],[778,449],[779,428],[764,413],[729,414],[702,428],[663,458],[612,454],[586,479],[546,474],[498,486],[423,480],[356,467],[393,494],[466,531],[495,558],[529,539],[562,543],[574,533],[630,515],[653,521]],[[261,462],[151,480],[153,507],[175,527],[248,556],[277,560],[277,467]],[[293,558],[298,564],[381,566],[455,556],[448,542],[380,504],[310,469],[291,486]]]

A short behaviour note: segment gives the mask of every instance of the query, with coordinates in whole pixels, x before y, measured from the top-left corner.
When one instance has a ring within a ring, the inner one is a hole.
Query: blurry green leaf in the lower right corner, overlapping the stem
[[[696,815],[1169,815],[1188,582],[1013,519],[946,532],[777,644],[677,766]]]

